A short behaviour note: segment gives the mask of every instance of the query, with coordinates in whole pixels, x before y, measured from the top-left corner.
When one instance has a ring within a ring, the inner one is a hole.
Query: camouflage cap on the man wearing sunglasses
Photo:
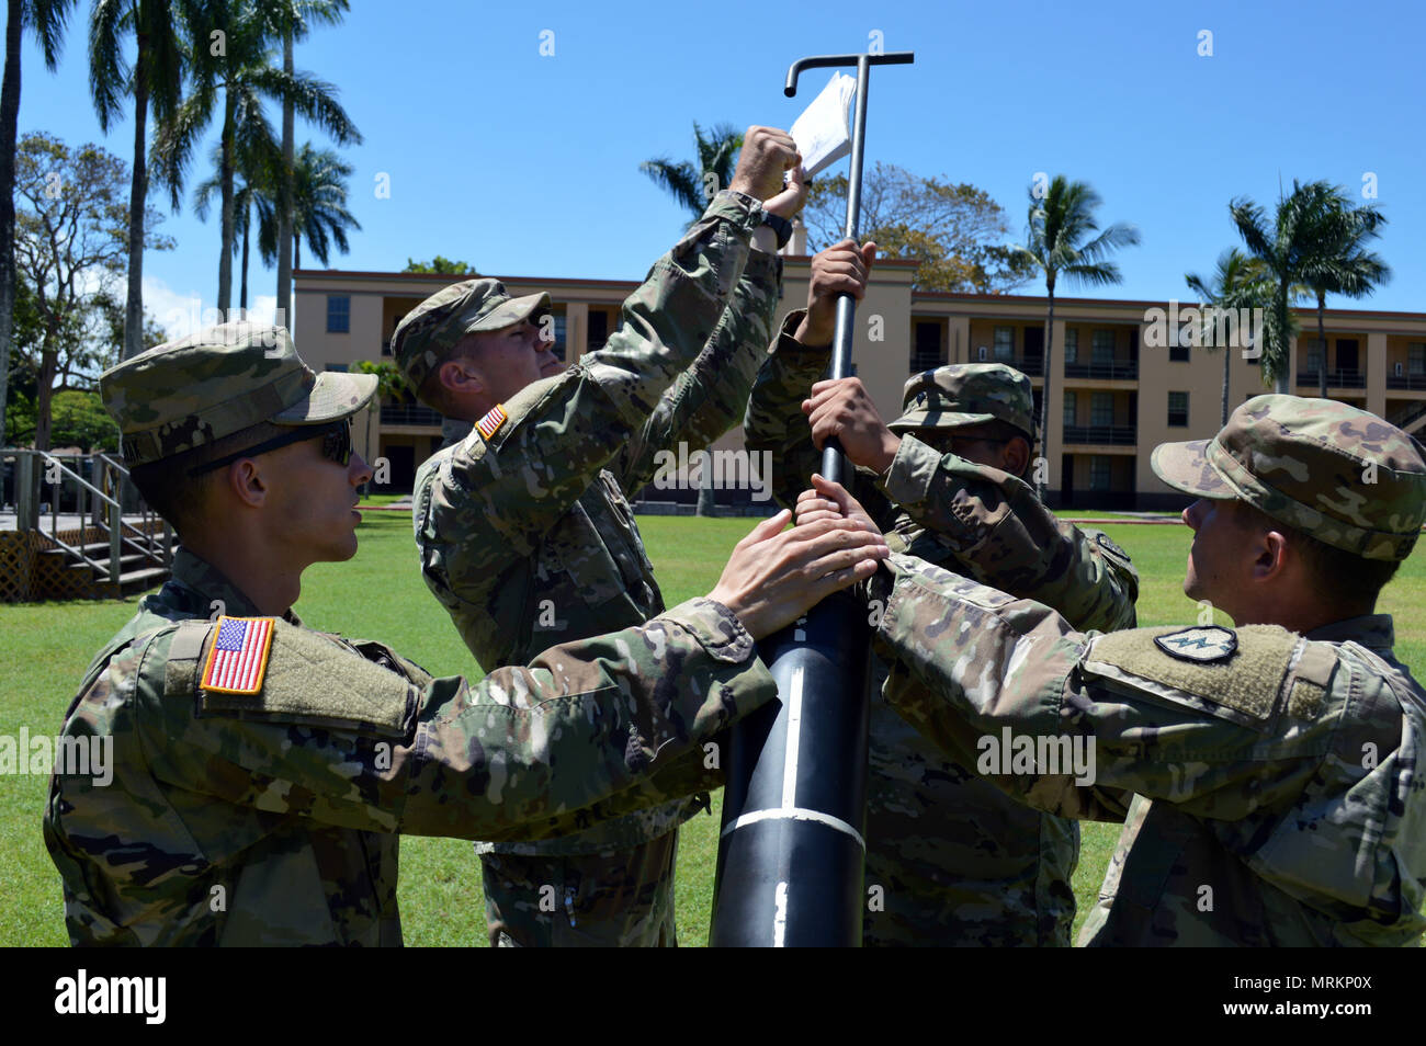
[[[376,375],[315,373],[285,328],[235,321],[164,342],[98,379],[124,460],[145,465],[260,422],[325,425],[361,410]]]

